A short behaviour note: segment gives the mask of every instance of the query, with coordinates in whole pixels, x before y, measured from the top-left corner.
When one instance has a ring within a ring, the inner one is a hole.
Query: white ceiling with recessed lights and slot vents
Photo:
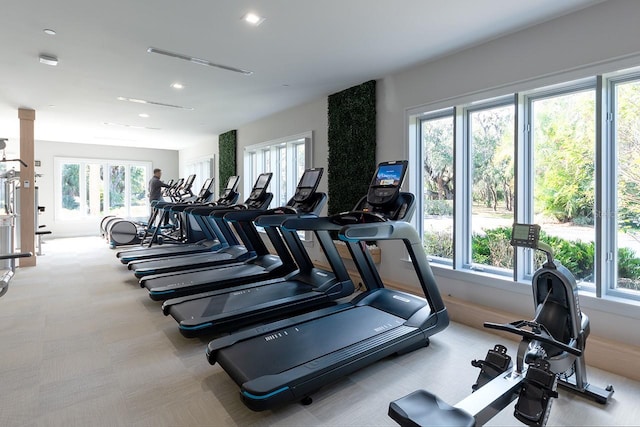
[[[30,108],[38,140],[166,149],[211,143],[277,111],[600,1],[7,2],[0,10],[0,137],[18,140],[17,110]],[[250,27],[240,19],[249,11],[266,20]],[[253,74],[147,53],[151,46]],[[57,56],[58,66],[40,64],[43,53]],[[171,88],[176,81],[186,87]]]

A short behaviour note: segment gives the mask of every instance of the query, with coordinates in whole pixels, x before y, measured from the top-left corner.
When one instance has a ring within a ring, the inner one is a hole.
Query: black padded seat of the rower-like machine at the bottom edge
[[[473,427],[471,414],[451,406],[426,390],[416,390],[389,404],[389,416],[402,427]]]

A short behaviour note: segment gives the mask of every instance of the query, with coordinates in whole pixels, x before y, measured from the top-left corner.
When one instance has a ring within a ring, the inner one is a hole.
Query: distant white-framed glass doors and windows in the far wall
[[[56,219],[149,215],[150,162],[56,158],[54,163]]]

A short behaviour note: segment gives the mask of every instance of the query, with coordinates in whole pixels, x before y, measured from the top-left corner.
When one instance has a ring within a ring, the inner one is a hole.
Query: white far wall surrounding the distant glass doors
[[[54,157],[77,157],[86,159],[138,160],[152,162],[153,168],[162,169],[162,179],[167,181],[178,177],[178,151],[151,150],[145,148],[111,147],[106,145],[75,144],[65,142],[35,141],[35,159],[41,166],[36,174],[39,205],[46,210],[40,215],[40,224],[52,231],[53,237],[95,235],[99,232],[101,218],[64,221],[54,215]]]

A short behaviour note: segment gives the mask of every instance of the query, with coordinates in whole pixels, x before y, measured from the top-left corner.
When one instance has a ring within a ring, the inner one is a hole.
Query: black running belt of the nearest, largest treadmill
[[[366,324],[362,319],[366,319]],[[313,363],[318,357],[402,326],[404,322],[401,317],[373,307],[354,307],[221,349],[218,363],[242,384]],[[232,366],[227,366],[226,360],[233,361]],[[257,360],[269,360],[270,363],[265,365]]]

